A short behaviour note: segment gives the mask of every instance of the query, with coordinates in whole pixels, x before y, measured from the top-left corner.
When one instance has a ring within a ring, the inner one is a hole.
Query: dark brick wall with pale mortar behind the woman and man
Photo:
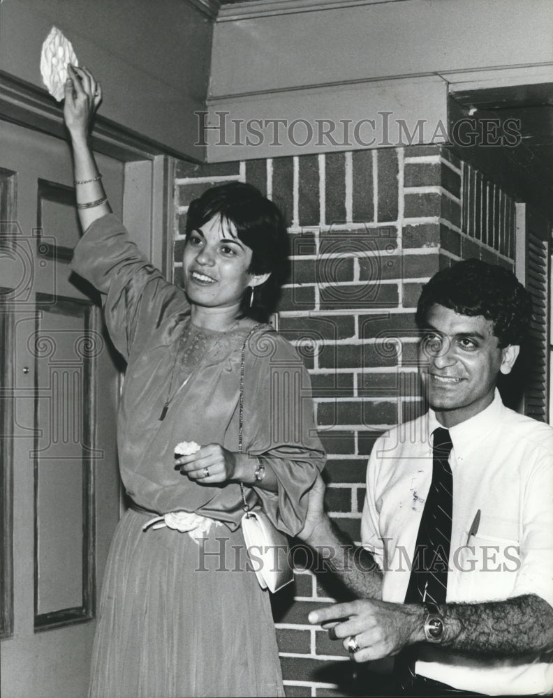
[[[327,509],[359,541],[374,439],[422,409],[413,322],[420,288],[461,258],[512,268],[514,203],[441,146],[179,162],[175,281],[186,207],[205,188],[233,179],[257,186],[285,211],[293,272],[277,326],[300,348],[311,374],[328,453]],[[274,597],[286,694],[351,695],[355,667],[341,643],[307,623],[309,611],[339,590],[295,561],[295,588]]]

